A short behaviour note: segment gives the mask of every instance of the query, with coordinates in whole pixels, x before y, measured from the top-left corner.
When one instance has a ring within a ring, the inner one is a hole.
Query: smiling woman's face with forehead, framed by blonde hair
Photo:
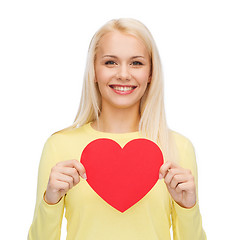
[[[95,60],[95,81],[102,106],[139,107],[151,80],[150,71],[151,60],[141,40],[118,31],[105,34],[99,41]]]

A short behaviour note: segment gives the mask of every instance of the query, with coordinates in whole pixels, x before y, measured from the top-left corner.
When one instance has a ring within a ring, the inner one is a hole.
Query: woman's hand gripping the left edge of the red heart
[[[86,177],[86,170],[78,160],[67,160],[57,163],[49,176],[44,201],[48,204],[56,204],[76,184],[80,182],[80,176]]]

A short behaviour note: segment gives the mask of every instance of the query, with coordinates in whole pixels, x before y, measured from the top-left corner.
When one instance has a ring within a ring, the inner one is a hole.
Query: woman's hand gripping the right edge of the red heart
[[[173,200],[181,207],[191,208],[196,203],[196,186],[190,170],[173,162],[166,162],[160,168],[159,179],[164,178]]]

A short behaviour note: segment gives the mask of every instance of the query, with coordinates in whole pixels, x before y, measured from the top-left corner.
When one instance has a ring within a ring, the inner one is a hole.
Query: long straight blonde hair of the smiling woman
[[[151,59],[151,82],[141,98],[139,132],[143,137],[151,139],[160,146],[165,161],[175,161],[176,146],[171,130],[166,122],[163,74],[158,49],[147,27],[140,21],[131,18],[108,21],[93,36],[88,49],[82,95],[77,116],[71,126],[58,132],[78,128],[86,123],[98,120],[101,113],[101,94],[94,81],[94,62],[100,39],[106,33],[112,31],[130,34],[141,39],[148,50]]]

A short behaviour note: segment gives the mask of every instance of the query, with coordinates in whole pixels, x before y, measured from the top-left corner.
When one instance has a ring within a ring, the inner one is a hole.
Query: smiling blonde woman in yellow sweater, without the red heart
[[[206,239],[194,148],[167,127],[163,99],[160,58],[149,30],[134,19],[107,22],[90,43],[74,123],[44,145],[29,240],[60,239],[64,206],[69,240],[167,240],[171,222],[175,240]],[[86,181],[79,160],[85,147],[99,138],[122,148],[146,138],[162,150],[159,180],[125,212],[110,206]]]

